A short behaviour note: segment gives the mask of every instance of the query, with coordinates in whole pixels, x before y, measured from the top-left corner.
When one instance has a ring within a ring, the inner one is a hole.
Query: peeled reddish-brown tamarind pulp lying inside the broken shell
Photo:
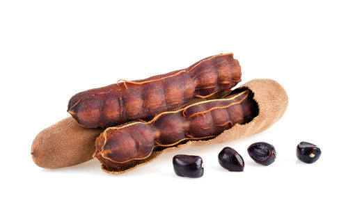
[[[150,122],[110,127],[96,140],[95,156],[106,168],[150,156],[155,146],[171,147],[184,140],[212,138],[258,113],[250,90],[224,99],[191,104],[156,115]]]

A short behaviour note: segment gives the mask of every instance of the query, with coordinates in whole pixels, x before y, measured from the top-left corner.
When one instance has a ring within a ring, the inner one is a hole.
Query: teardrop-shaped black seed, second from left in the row
[[[225,147],[219,153],[219,163],[223,168],[229,171],[243,171],[244,160],[236,150],[231,147]]]

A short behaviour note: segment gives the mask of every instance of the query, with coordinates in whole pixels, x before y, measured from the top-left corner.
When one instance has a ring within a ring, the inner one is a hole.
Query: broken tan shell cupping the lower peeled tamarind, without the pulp
[[[117,168],[113,168],[113,170],[109,170],[102,165],[102,170],[109,173],[127,172],[140,165],[153,161],[162,152],[173,152],[188,145],[212,145],[250,136],[251,134],[256,134],[268,129],[285,113],[288,103],[287,93],[276,81],[271,79],[254,79],[245,83],[241,88],[251,90],[251,92],[253,92],[253,99],[258,104],[259,113],[251,122],[246,124],[235,124],[231,129],[227,129],[219,136],[209,140],[189,140],[187,143],[166,147],[164,150],[154,150],[151,152],[150,156],[145,159],[119,164]]]

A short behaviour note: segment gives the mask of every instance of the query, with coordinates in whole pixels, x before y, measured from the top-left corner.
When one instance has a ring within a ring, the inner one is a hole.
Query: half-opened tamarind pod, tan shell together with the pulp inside
[[[223,143],[263,131],[283,116],[287,101],[279,83],[255,79],[222,99],[166,111],[150,122],[110,127],[97,138],[94,156],[105,172],[127,172],[162,152]]]

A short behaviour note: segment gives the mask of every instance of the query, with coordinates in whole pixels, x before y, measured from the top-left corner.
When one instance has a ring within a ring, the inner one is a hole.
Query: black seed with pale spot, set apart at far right
[[[320,154],[322,154],[320,148],[312,143],[303,141],[296,148],[297,158],[304,163],[314,163],[319,159]]]

